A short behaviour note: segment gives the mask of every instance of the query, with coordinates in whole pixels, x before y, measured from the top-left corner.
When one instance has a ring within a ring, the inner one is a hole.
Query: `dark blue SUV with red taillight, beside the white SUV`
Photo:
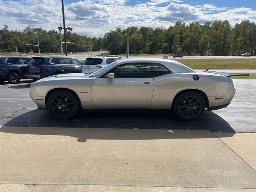
[[[64,74],[81,73],[82,63],[72,57],[32,57],[27,66],[27,78],[38,80],[44,77]]]

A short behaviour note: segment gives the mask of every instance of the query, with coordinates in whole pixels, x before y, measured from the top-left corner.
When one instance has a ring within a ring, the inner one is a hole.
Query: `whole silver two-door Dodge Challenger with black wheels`
[[[164,59],[124,59],[91,74],[60,74],[31,85],[30,97],[54,118],[70,119],[79,109],[171,109],[182,121],[194,121],[205,109],[230,104],[231,75],[196,72]]]

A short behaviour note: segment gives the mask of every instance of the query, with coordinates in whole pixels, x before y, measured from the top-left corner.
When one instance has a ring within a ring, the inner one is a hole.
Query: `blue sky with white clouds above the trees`
[[[99,37],[128,26],[168,28],[176,21],[242,20],[256,22],[255,0],[64,0],[66,26],[78,34]],[[61,0],[0,0],[0,26],[57,30],[62,23]]]

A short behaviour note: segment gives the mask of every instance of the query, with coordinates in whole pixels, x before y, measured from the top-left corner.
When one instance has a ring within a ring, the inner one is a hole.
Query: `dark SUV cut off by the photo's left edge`
[[[0,57],[0,83],[8,80],[9,83],[17,83],[26,78],[26,66],[31,57],[26,56],[2,56]]]

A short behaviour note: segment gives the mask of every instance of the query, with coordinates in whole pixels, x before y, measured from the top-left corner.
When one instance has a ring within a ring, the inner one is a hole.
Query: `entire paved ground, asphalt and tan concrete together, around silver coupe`
[[[256,80],[197,122],[169,110],[36,109],[29,80],[0,84],[0,191],[256,190]],[[250,133],[250,134],[249,134]]]

